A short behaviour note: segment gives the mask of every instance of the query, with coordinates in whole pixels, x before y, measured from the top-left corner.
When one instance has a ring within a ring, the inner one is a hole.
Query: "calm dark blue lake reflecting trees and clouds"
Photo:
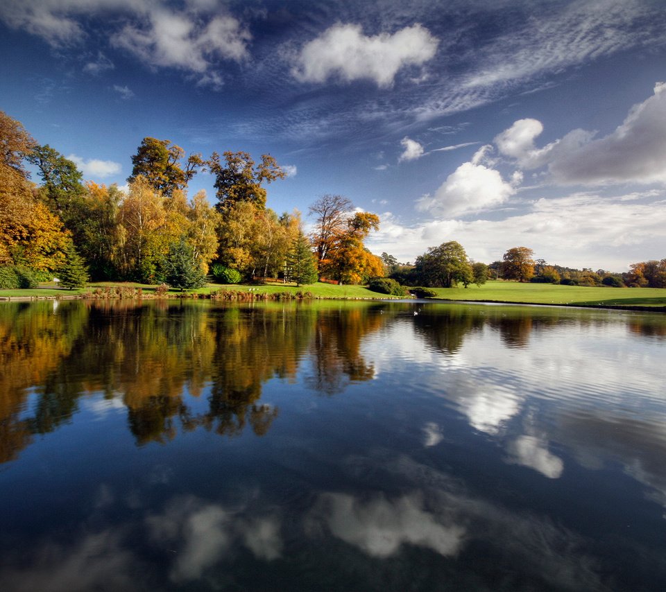
[[[0,589],[663,591],[665,360],[656,314],[2,304]]]

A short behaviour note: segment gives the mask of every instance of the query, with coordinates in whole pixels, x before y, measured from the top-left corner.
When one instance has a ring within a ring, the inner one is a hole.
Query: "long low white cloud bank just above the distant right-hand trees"
[[[573,193],[542,198],[527,207],[495,220],[445,218],[409,226],[384,212],[379,232],[368,237],[368,248],[414,261],[428,247],[453,240],[475,261],[490,263],[502,259],[510,247],[527,245],[551,263],[618,272],[635,261],[661,259],[666,251],[663,191],[615,196]]]

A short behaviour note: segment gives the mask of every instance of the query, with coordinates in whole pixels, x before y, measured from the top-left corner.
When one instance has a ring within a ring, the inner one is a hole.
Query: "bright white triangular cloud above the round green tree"
[[[441,184],[434,195],[425,195],[417,209],[434,215],[460,216],[506,202],[515,187],[502,179],[499,171],[481,164],[488,146],[480,148],[470,162],[461,164]]]

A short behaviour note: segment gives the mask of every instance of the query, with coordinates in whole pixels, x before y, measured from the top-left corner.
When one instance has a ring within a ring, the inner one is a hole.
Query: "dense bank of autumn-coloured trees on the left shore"
[[[84,182],[74,162],[40,146],[3,112],[0,146],[0,288],[34,287],[56,274],[69,287],[95,279],[177,288],[202,286],[207,275],[299,285],[383,275],[382,261],[364,246],[379,228],[375,214],[325,195],[310,208],[316,230],[305,236],[298,211],[278,215],[266,207],[266,184],[287,176],[270,155],[260,162],[232,151],[185,157],[171,141],[146,137],[121,191]],[[187,195],[201,171],[214,176],[214,206],[205,191]]]

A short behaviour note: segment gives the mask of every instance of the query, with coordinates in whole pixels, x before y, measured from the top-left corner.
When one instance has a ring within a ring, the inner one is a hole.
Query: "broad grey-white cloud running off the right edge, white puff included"
[[[495,137],[499,153],[525,169],[547,166],[559,184],[666,183],[666,84],[634,105],[613,132],[595,139],[595,132],[572,130],[538,148],[543,125],[520,119]]]

